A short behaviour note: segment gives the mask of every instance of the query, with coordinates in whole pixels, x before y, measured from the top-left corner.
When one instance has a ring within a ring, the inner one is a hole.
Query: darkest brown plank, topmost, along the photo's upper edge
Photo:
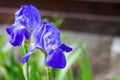
[[[42,10],[120,16],[120,3],[76,0],[2,0],[1,7],[19,8],[33,4]]]

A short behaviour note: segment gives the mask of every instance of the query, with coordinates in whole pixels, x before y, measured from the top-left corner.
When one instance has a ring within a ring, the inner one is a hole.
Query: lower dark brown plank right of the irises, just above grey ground
[[[96,20],[83,19],[65,19],[65,22],[60,27],[62,30],[70,30],[81,33],[93,33],[102,35],[120,36],[119,22],[104,22]]]

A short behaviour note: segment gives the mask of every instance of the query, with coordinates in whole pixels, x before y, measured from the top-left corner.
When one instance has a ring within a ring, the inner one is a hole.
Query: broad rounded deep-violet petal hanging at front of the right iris
[[[66,66],[65,55],[60,49],[52,50],[46,58],[46,64],[52,68],[64,68]]]

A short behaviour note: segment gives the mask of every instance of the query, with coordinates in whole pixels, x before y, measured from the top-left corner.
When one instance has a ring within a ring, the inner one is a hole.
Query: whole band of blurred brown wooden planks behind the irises
[[[120,36],[119,0],[2,0],[0,24],[12,24],[23,4],[33,4],[43,17],[64,17],[62,30]]]

